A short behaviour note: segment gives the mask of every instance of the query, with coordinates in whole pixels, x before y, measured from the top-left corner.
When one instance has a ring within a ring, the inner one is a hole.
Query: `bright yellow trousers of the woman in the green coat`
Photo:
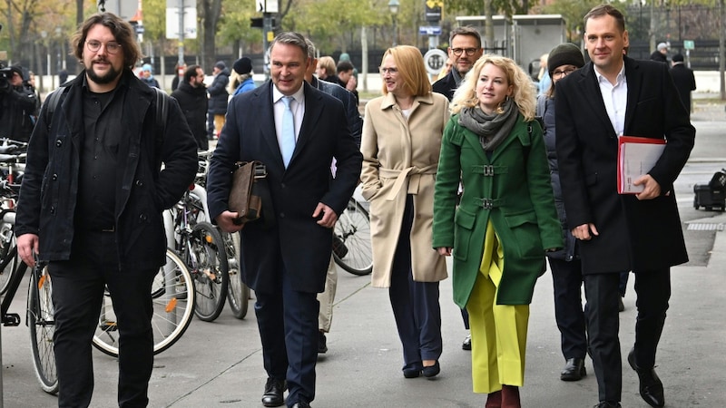
[[[504,262],[504,251],[489,222],[479,276],[466,304],[475,393],[494,393],[502,384],[521,387],[525,383],[529,305],[496,305]]]

